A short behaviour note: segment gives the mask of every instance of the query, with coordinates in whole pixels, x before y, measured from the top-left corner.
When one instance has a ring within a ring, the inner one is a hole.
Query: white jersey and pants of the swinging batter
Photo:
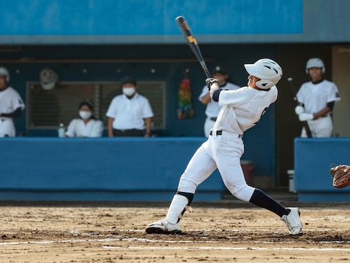
[[[195,193],[197,186],[219,169],[232,195],[249,201],[254,188],[246,184],[240,163],[244,152],[243,132],[259,122],[270,104],[276,101],[277,94],[276,86],[269,91],[252,87],[221,91],[219,105],[222,108],[212,135],[191,158],[177,191]]]

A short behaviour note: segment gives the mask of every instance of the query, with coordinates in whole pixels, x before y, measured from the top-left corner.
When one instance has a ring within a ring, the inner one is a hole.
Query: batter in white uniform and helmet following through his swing
[[[219,169],[224,184],[233,196],[276,213],[289,233],[300,233],[302,224],[296,207],[283,207],[260,189],[245,182],[240,158],[244,151],[243,132],[258,123],[271,103],[277,99],[276,84],[281,67],[271,59],[245,64],[248,86],[238,90],[222,90],[215,78],[207,78],[210,98],[221,105],[221,111],[210,136],[195,152],[179,180],[166,218],[148,224],[146,233],[180,233],[179,220],[190,205],[197,186]]]

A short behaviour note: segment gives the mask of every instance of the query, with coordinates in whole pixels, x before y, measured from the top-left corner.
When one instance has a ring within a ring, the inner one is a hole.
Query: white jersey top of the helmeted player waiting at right
[[[304,104],[305,112],[313,114],[319,112],[331,101],[340,101],[338,87],[335,83],[323,80],[313,84],[311,81],[303,83],[296,93],[299,103]]]

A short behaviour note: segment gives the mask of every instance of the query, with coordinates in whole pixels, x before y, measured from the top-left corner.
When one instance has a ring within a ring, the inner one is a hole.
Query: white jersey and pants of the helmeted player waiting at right
[[[305,112],[314,114],[327,106],[332,101],[340,101],[338,87],[335,83],[323,80],[316,84],[311,81],[303,83],[296,94],[298,102],[304,104]],[[331,137],[333,132],[333,123],[330,113],[316,120],[308,120],[312,137]],[[303,128],[301,137],[306,138],[307,134]]]

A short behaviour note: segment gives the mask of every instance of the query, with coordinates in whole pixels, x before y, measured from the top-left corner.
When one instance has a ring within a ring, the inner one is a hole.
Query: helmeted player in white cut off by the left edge
[[[13,118],[19,118],[25,105],[19,93],[8,87],[10,74],[0,67],[0,137],[16,136]]]

